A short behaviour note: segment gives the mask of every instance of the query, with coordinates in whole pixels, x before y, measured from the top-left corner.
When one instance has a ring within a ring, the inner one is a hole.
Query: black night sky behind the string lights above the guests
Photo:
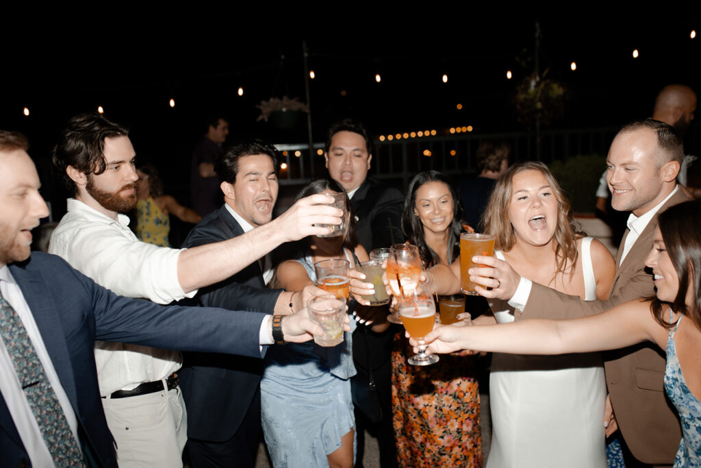
[[[224,11],[217,20],[201,11],[119,17],[95,11],[91,20],[83,13],[70,21],[18,21],[0,32],[0,128],[26,133],[39,161],[70,116],[98,105],[130,127],[139,158],[160,163],[187,161],[198,122],[212,112],[230,119],[229,140],[254,135],[304,142],[304,128],[275,132],[256,121],[254,107],[271,96],[306,100],[303,39],[316,74],[315,141],[342,116],[362,119],[377,135],[463,125],[476,133],[524,131],[513,98],[534,67],[532,15],[500,19],[464,6],[427,8],[426,15],[409,18],[372,11],[358,20],[324,11],[322,24],[304,27],[291,16],[278,27],[269,18],[253,24]],[[561,82],[568,95],[564,115],[550,128],[617,127],[648,116],[667,83],[701,91],[701,37],[689,37],[692,29],[701,33],[701,16],[565,16],[538,18],[540,70],[549,69],[547,77]],[[519,65],[523,60],[526,68]],[[376,73],[381,83],[374,81]],[[443,73],[448,83],[442,83]],[[456,109],[458,103],[463,109]],[[29,117],[22,115],[25,106]]]

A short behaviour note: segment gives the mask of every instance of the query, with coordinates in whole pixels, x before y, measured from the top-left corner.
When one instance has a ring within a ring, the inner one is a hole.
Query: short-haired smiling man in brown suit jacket
[[[494,289],[479,292],[510,300],[522,311],[517,319],[573,319],[654,295],[645,259],[653,245],[658,213],[688,200],[676,185],[682,159],[681,140],[672,127],[652,119],[623,127],[611,143],[606,160],[611,203],[616,210],[632,214],[618,250],[608,300],[584,301],[559,293],[522,279],[506,262],[484,257],[479,263],[492,268],[471,269],[470,274],[491,277],[481,282]],[[620,349],[606,361],[606,385],[615,414],[610,422],[618,422],[634,457],[655,465],[671,465],[681,439],[679,418],[665,396],[664,373],[665,358],[653,346]]]

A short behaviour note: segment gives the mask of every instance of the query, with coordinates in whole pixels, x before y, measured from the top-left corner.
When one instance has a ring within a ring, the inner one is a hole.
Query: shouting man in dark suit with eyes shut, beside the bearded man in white
[[[240,236],[270,222],[278,198],[277,150],[254,140],[236,145],[216,161],[224,206],[192,230],[187,248]],[[206,307],[290,313],[323,293],[267,289],[272,264],[266,255],[237,274],[207,288],[197,300]],[[180,386],[188,412],[188,452],[193,467],[253,467],[261,431],[260,359],[222,354],[185,355]]]

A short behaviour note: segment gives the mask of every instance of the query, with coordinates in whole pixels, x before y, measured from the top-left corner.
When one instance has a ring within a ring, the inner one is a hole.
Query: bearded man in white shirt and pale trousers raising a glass
[[[96,115],[71,119],[53,152],[75,198],[68,200],[49,251],[120,295],[160,304],[192,297],[281,243],[329,232],[315,224],[341,222],[341,210],[324,206],[328,197],[318,195],[236,239],[186,250],[139,242],[121,214],[136,203],[135,156],[125,128]],[[179,349],[178,343],[170,348]],[[95,361],[120,466],[180,466],[186,414],[176,374],[179,352],[97,342]]]

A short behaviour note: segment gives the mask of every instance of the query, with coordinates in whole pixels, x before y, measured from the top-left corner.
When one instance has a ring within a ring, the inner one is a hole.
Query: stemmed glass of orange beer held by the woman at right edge
[[[414,340],[421,342],[423,337],[433,330],[436,316],[436,306],[433,297],[418,295],[404,297],[399,302],[399,313],[402,323]],[[412,366],[428,366],[438,362],[435,354],[426,354],[426,346],[418,345],[418,354],[411,356],[407,362]]]

